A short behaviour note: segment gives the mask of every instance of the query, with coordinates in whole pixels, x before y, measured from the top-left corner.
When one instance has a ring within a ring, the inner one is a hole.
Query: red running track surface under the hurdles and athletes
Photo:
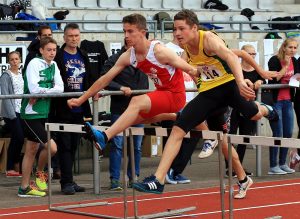
[[[163,195],[145,195],[142,193],[138,195],[139,216],[165,212],[168,209],[175,210],[195,206],[196,210],[187,212],[177,218],[222,218],[220,193],[217,187],[168,192]],[[124,204],[122,198],[99,201],[107,201],[110,204],[107,206],[85,207],[72,210],[123,217]],[[86,201],[81,202],[81,204],[93,202]],[[298,219],[300,218],[300,179],[255,183],[248,191],[245,199],[233,201],[233,207],[233,216],[238,219],[264,219],[274,216],[282,216],[283,219]],[[229,218],[228,192],[225,195],[225,209],[227,210],[226,218]],[[133,204],[131,201],[128,203],[128,216],[133,216]],[[48,206],[0,209],[0,217],[1,219],[88,218],[87,216],[49,211]]]

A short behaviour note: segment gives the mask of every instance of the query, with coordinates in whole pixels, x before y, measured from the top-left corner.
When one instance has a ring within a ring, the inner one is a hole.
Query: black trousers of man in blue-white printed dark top
[[[71,121],[61,121],[67,124],[83,124],[83,115],[81,113],[73,113]],[[66,183],[73,182],[73,164],[75,153],[78,148],[81,134],[70,132],[57,132],[56,143],[58,148],[59,165],[61,171],[60,184],[64,186]]]

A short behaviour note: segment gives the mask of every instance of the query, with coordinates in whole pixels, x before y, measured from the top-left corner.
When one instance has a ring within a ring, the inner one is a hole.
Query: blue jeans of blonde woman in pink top
[[[274,108],[278,112],[279,120],[277,122],[270,121],[273,137],[291,138],[294,128],[294,112],[293,103],[290,100],[280,100],[274,104]],[[288,148],[270,147],[270,167],[277,166],[277,156],[279,149],[279,165],[286,164],[286,156]]]

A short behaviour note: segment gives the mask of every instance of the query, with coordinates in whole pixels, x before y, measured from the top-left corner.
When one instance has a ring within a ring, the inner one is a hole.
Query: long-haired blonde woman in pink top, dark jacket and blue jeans
[[[278,71],[276,79],[270,83],[288,84],[295,72],[298,72],[297,60],[294,57],[298,48],[295,38],[286,39],[279,48],[278,54],[268,62],[270,70]],[[270,121],[274,137],[291,138],[294,127],[293,98],[295,88],[273,90],[274,108],[278,111],[279,120]],[[283,175],[295,170],[286,164],[288,148],[270,147],[270,170],[268,174]],[[279,162],[278,162],[279,150]]]

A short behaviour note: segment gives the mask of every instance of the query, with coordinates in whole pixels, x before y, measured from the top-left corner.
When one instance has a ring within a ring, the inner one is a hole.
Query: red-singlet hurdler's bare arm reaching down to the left
[[[68,100],[70,108],[80,106],[88,98],[94,96],[100,90],[104,89],[113,79],[116,77],[126,66],[130,64],[130,49],[123,53],[116,64],[102,77],[100,77],[95,83],[79,98],[72,98]]]

